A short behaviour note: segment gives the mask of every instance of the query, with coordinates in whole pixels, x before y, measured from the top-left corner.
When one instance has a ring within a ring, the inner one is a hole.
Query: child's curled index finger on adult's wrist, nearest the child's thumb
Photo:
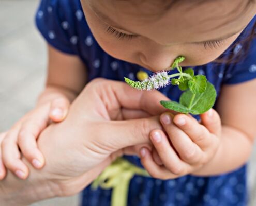
[[[36,142],[41,130],[39,122],[30,120],[21,126],[18,134],[18,145],[22,154],[36,169],[41,169],[44,165],[44,157]]]

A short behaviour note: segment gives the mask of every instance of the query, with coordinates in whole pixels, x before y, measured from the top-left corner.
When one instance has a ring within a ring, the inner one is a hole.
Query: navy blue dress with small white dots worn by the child
[[[256,18],[250,22],[237,41],[246,38]],[[88,69],[89,80],[104,77],[124,81],[124,77],[137,80],[138,71],[150,71],[139,65],[121,61],[105,53],[95,41],[87,23],[79,0],[41,0],[36,13],[36,24],[42,36],[54,48],[63,53],[77,55]],[[236,43],[235,42],[235,43]],[[228,48],[224,58],[244,53],[243,45]],[[256,40],[248,54],[239,63],[208,63],[194,67],[195,74],[204,74],[215,85],[219,95],[222,84],[236,84],[256,78]],[[172,72],[171,72],[172,73]],[[170,74],[171,74],[170,73]],[[178,101],[180,91],[175,86],[160,90],[172,100]],[[195,116],[199,118],[198,116]],[[140,159],[126,156],[130,162],[141,166]],[[243,206],[248,202],[247,165],[227,174],[211,177],[186,175],[173,180],[135,176],[129,187],[128,205],[130,206]],[[83,191],[83,206],[110,205],[110,190]]]

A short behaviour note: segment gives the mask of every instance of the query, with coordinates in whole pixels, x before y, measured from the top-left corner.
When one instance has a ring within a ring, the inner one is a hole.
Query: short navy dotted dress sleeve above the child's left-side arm
[[[37,28],[46,41],[63,53],[77,55],[76,22],[83,12],[74,10],[70,0],[41,0],[35,16]]]

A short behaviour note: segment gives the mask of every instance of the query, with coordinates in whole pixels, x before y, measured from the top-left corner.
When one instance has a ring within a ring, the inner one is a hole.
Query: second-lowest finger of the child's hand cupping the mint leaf
[[[187,174],[188,169],[191,168],[190,165],[178,157],[163,131],[153,130],[150,132],[150,140],[157,150],[164,166],[167,167],[171,173],[175,175]]]

